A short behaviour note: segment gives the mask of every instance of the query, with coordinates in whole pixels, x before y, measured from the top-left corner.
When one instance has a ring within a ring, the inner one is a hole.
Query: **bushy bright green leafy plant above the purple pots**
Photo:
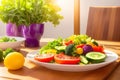
[[[63,19],[55,0],[1,0],[0,19],[16,25],[51,22],[54,26]]]

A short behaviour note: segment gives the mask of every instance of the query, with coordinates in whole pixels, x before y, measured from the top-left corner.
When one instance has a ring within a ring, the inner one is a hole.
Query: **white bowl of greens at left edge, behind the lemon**
[[[0,38],[3,36],[0,36]],[[6,48],[19,48],[21,47],[21,44],[25,41],[22,37],[13,37],[13,36],[6,36],[8,38],[15,38],[16,42],[0,42],[0,49],[6,49]]]

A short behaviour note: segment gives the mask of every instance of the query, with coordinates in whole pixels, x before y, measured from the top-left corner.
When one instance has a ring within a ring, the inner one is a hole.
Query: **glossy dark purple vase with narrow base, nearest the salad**
[[[31,24],[22,27],[23,36],[25,37],[26,47],[39,47],[39,40],[44,32],[44,24]]]

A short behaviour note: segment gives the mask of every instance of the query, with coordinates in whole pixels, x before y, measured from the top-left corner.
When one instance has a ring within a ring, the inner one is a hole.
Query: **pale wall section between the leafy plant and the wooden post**
[[[74,0],[58,0],[62,9],[61,14],[64,19],[57,27],[53,27],[51,24],[45,25],[45,31],[43,37],[57,38],[62,36],[63,38],[73,34],[74,26]]]

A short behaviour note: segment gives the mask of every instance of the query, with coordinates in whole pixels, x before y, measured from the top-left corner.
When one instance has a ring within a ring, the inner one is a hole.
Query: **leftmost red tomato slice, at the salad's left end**
[[[40,62],[50,62],[54,59],[54,54],[39,54],[34,59]]]

